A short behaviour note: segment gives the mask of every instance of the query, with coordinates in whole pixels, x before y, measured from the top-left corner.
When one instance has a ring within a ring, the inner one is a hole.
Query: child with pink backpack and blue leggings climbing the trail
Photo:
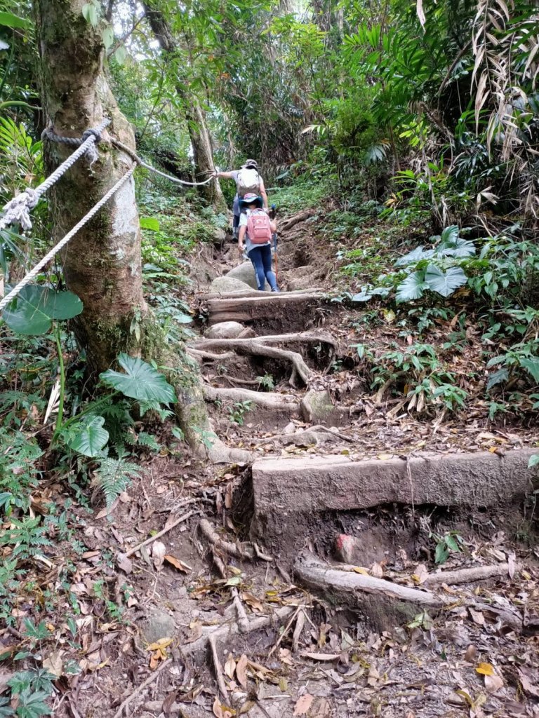
[[[275,272],[272,271],[272,235],[277,232],[277,225],[270,220],[263,209],[264,201],[254,192],[249,192],[239,200],[239,253],[243,254],[244,246],[247,256],[254,266],[257,285],[264,292],[264,284],[271,286],[272,292],[280,292]],[[246,210],[246,211],[242,211]]]

